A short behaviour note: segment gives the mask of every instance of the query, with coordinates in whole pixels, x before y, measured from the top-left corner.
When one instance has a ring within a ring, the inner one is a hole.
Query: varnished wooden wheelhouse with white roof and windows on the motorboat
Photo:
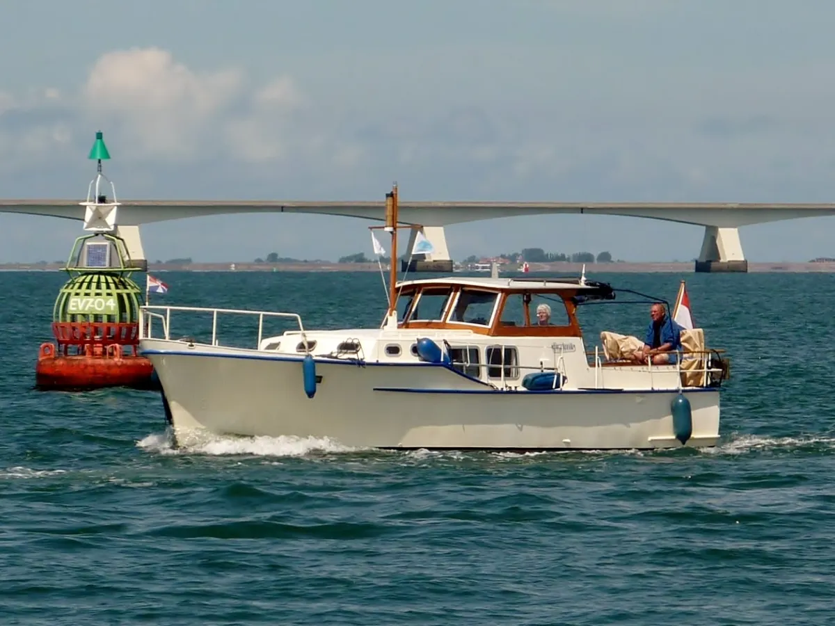
[[[397,294],[398,328],[542,337],[582,337],[577,304],[615,297],[604,283],[541,278],[409,280],[398,283]]]

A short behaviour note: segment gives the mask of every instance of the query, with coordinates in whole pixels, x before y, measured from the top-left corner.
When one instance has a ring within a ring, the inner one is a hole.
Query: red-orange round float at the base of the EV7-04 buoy
[[[43,390],[82,391],[125,386],[156,389],[159,380],[154,366],[144,356],[123,355],[121,346],[108,346],[101,354],[59,354],[55,345],[45,343],[35,366],[35,386]],[[99,351],[96,351],[99,352]]]

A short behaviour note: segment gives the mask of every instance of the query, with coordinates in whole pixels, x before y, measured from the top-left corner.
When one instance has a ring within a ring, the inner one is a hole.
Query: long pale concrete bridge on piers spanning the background
[[[118,225],[129,254],[139,267],[147,267],[139,226],[162,220],[180,220],[203,215],[240,213],[313,213],[341,215],[366,220],[385,219],[385,201],[300,202],[291,200],[127,200],[108,204],[100,197],[93,206],[77,199],[0,199],[0,212],[48,215],[83,220],[85,228],[95,223]],[[736,204],[736,203],[646,203],[646,202],[399,202],[399,220],[421,226],[435,252],[412,261],[412,271],[451,271],[443,227],[475,220],[514,215],[573,213],[627,215],[702,226],[705,237],[696,260],[697,272],[745,272],[739,228],[777,220],[835,215],[835,204]],[[117,219],[118,212],[118,219]],[[412,230],[412,241],[417,230]],[[412,241],[407,250],[412,249]]]

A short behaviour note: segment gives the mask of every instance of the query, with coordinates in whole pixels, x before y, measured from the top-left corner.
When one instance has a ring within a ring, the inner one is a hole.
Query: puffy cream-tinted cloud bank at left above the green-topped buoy
[[[252,85],[240,68],[200,72],[166,50],[130,48],[99,57],[74,93],[0,92],[0,147],[14,146],[18,158],[48,159],[73,137],[73,149],[88,149],[100,129],[134,164],[214,159],[234,167],[292,157],[352,167],[362,149],[327,131],[311,116],[312,104],[288,75]],[[0,169],[22,164],[5,152]]]

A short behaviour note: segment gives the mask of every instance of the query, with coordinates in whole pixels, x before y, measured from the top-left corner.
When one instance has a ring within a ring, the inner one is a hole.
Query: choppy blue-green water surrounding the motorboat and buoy
[[[592,277],[669,299],[681,279]],[[153,392],[31,389],[64,278],[0,274],[0,623],[832,623],[835,278],[686,279],[731,353],[721,445],[514,455],[175,451]],[[157,301],[309,326],[377,325],[385,301],[375,274],[164,280]],[[646,311],[583,315],[594,337]]]

